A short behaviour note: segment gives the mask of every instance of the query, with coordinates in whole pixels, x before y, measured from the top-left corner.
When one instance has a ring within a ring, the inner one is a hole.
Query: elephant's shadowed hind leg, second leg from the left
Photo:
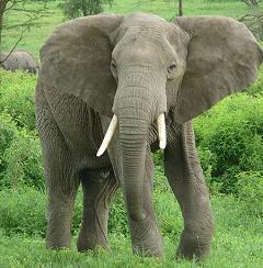
[[[78,250],[101,246],[108,249],[107,220],[110,202],[118,188],[111,167],[81,174],[83,215],[78,237]]]

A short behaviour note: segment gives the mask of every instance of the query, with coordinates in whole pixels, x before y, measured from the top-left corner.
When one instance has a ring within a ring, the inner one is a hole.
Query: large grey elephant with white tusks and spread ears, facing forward
[[[162,256],[151,157],[160,148],[184,221],[175,256],[208,256],[215,223],[192,120],[255,81],[262,59],[245,25],[224,16],[102,13],[57,26],[41,48],[35,91],[47,248],[70,247],[81,185],[79,252],[110,248],[110,202],[121,188],[133,252]]]

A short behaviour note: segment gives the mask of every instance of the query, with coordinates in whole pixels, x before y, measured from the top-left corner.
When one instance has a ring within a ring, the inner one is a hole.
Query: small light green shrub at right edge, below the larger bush
[[[263,174],[247,171],[237,175],[238,197],[243,201],[244,210],[263,216]]]

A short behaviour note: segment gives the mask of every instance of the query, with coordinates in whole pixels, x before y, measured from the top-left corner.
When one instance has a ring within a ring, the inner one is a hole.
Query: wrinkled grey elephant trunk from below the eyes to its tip
[[[142,196],[149,132],[159,114],[165,112],[165,80],[144,70],[136,71],[136,76],[130,72],[125,81],[119,81],[114,108],[118,118],[127,211],[133,221],[141,221],[146,217]]]

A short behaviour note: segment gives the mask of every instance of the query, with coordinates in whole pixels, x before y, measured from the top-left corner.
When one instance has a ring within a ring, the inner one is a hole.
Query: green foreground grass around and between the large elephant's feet
[[[155,176],[153,201],[164,241],[162,258],[132,254],[119,198],[111,206],[111,250],[98,249],[80,254],[76,241],[82,209],[81,194],[76,203],[71,249],[52,252],[46,249],[44,239],[45,194],[26,188],[1,191],[0,267],[263,267],[262,219],[248,213],[245,203],[232,196],[211,196],[216,232],[210,256],[201,263],[175,259],[183,223],[179,205],[160,166],[157,166]]]

